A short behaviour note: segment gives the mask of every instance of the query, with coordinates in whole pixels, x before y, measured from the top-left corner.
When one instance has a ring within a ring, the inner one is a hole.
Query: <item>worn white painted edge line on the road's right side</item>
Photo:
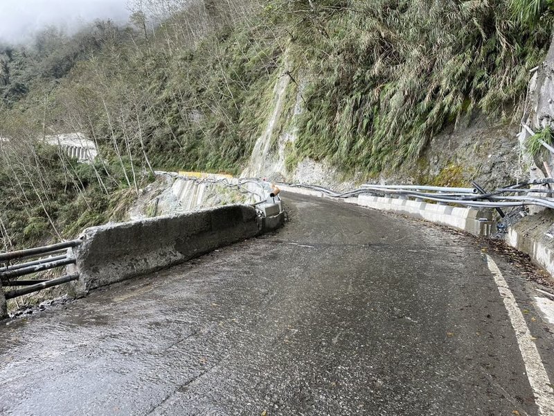
[[[515,297],[508,287],[506,279],[502,276],[497,263],[494,263],[492,258],[486,254],[487,264],[494,281],[498,286],[498,291],[504,300],[504,306],[510,316],[512,327],[515,331],[517,338],[517,345],[519,345],[519,351],[521,357],[524,359],[525,368],[527,370],[527,378],[533,393],[535,394],[535,402],[539,408],[540,416],[554,416],[554,392],[551,387],[548,374],[544,370],[544,365],[539,355],[539,350],[531,338],[529,327],[527,326],[524,314],[521,313]]]

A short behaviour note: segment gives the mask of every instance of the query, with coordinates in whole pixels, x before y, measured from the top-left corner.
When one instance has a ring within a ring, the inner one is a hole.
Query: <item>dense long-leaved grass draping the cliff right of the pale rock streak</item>
[[[516,24],[503,1],[356,4],[329,1],[314,20],[326,35],[297,37],[312,71],[297,146],[375,174],[465,114],[510,119],[551,36],[548,21]]]

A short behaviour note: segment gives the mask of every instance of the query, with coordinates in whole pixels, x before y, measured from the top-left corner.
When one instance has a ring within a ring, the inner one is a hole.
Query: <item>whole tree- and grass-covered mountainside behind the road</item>
[[[154,169],[240,173],[287,90],[287,161],[375,175],[467,114],[509,121],[546,54],[552,0],[141,0],[0,44],[0,250],[117,220]],[[83,132],[78,164],[45,135]]]

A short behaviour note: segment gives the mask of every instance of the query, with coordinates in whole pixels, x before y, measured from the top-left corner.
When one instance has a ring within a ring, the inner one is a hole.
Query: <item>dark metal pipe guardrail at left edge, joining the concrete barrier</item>
[[[74,264],[75,259],[67,254],[67,252],[64,254],[59,253],[62,252],[62,250],[67,251],[69,248],[76,247],[81,243],[81,240],[72,240],[64,241],[63,243],[44,245],[37,248],[29,248],[26,250],[0,253],[0,281],[2,286],[20,287],[19,289],[6,291],[4,293],[6,299],[13,299],[14,297],[27,295],[28,293],[41,291],[44,288],[50,288],[64,284],[68,281],[79,279],[79,275],[73,273],[71,275],[64,275],[62,277],[56,277],[55,279],[48,280],[17,280],[18,277],[34,275],[35,273],[42,272],[44,270],[51,270],[53,268]],[[41,258],[23,263],[12,263],[12,261],[21,261],[21,259],[28,259],[32,257]]]

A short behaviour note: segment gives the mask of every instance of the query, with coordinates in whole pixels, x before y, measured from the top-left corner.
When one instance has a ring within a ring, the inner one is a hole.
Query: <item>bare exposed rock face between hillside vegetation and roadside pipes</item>
[[[289,76],[288,67],[285,59],[283,70],[276,75],[273,107],[266,127],[242,176],[321,184],[334,189],[347,189],[368,180],[325,161],[294,159],[290,149],[298,137],[296,119],[303,112],[303,88],[309,79],[307,75]],[[380,177],[369,180],[445,186],[467,185],[476,180],[485,188],[521,181],[528,177],[528,167],[521,157],[518,132],[517,123],[491,121],[476,114],[457,125],[447,125],[429,142],[419,159],[404,162],[400,167],[391,166]]]

